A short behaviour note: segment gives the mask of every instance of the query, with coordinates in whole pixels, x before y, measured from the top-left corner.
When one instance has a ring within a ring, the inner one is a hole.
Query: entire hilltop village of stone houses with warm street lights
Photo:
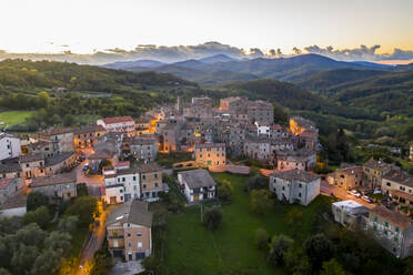
[[[212,175],[251,175],[253,162],[265,165],[258,171],[275,200],[309,207],[319,195],[329,196],[335,222],[371,232],[396,257],[413,253],[405,211],[413,203],[412,175],[374,159],[314,173],[322,149],[318,128],[301,116],[278,124],[266,101],[236,96],[214,105],[206,96],[178,98],[140,118],[104,118],[95,125],[51,128],[28,138],[1,133],[0,147],[2,218],[27,215],[32,193],[62,205],[85,187],[105,213],[93,234],[107,240],[111,256],[127,262],[154,254],[151,204],[170,192],[178,192],[187,207],[221,201]],[[169,155],[188,159],[160,161]]]

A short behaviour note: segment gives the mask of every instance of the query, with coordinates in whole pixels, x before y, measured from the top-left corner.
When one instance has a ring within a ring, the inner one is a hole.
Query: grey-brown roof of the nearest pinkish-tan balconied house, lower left
[[[107,218],[105,226],[120,222],[151,227],[152,217],[152,213],[148,211],[147,202],[133,200],[113,208]]]

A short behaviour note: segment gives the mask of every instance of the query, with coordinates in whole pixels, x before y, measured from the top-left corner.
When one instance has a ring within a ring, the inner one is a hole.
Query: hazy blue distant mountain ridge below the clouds
[[[155,64],[155,63],[151,63]],[[109,64],[113,67],[113,64]],[[202,84],[215,84],[229,81],[245,81],[253,79],[275,79],[298,82],[319,72],[335,69],[352,70],[392,70],[394,67],[372,62],[336,61],[319,54],[302,54],[292,58],[235,60],[224,54],[212,55],[200,60],[145,67],[142,62],[115,63],[118,69],[134,72],[155,71],[171,73],[179,78]],[[218,73],[220,72],[220,73]]]

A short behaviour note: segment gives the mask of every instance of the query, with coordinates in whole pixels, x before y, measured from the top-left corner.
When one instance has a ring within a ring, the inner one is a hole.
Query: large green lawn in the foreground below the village
[[[309,236],[316,211],[329,203],[319,196],[310,206],[279,205],[264,216],[256,216],[249,210],[249,194],[242,186],[248,177],[231,174],[214,174],[216,180],[229,180],[234,187],[233,202],[223,206],[223,220],[214,232],[200,224],[200,207],[187,208],[184,213],[171,215],[168,220],[167,244],[163,258],[163,274],[284,274],[271,266],[264,255],[254,246],[253,236],[258,228],[265,228],[270,235],[286,234],[301,244]],[[296,235],[285,223],[291,208],[303,211],[304,218]]]

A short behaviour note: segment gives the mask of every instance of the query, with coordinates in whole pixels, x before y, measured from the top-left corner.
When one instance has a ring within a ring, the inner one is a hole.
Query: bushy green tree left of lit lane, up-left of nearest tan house
[[[97,211],[98,201],[91,196],[81,196],[75,198],[74,203],[64,212],[66,215],[79,217],[80,225],[88,225],[93,221],[93,214]]]

